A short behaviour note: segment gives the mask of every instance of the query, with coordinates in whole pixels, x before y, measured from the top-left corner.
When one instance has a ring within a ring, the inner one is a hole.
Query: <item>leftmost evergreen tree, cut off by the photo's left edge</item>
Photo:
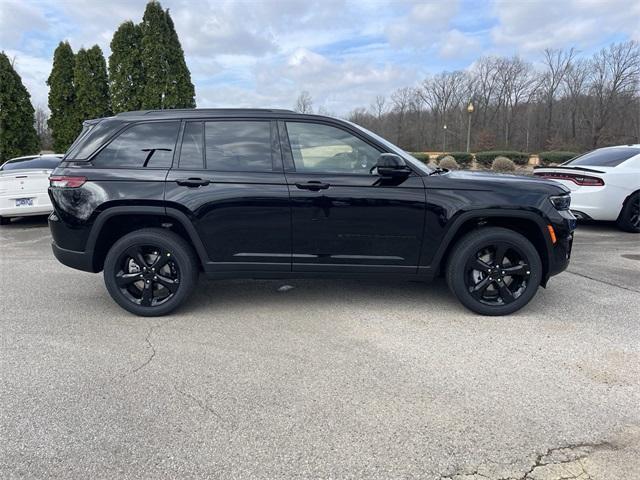
[[[40,148],[31,96],[9,57],[0,52],[0,164]]]

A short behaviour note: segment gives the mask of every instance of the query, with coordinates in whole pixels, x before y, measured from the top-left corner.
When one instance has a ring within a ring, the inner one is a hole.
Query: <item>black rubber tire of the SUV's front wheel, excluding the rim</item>
[[[465,282],[465,267],[471,255],[491,242],[501,241],[520,250],[530,267],[528,285],[523,294],[512,303],[500,306],[485,305],[469,293]],[[449,288],[468,309],[481,315],[508,315],[524,307],[536,294],[542,280],[542,262],[536,248],[523,235],[503,228],[478,230],[464,237],[455,247],[450,259],[447,282]]]

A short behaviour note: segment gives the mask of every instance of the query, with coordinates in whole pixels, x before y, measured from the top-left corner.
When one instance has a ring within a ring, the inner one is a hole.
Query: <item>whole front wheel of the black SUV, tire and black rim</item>
[[[496,262],[496,257],[502,260]],[[511,273],[511,275],[509,275]],[[523,235],[485,227],[462,237],[446,268],[449,289],[460,302],[481,315],[508,315],[533,298],[542,279],[536,248]]]

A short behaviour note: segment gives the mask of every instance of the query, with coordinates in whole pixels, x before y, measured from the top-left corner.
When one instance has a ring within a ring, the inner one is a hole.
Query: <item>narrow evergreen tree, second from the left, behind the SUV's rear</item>
[[[56,152],[65,152],[82,126],[75,112],[74,65],[75,58],[69,42],[60,42],[53,54],[53,68],[47,80],[51,111],[48,125]]]

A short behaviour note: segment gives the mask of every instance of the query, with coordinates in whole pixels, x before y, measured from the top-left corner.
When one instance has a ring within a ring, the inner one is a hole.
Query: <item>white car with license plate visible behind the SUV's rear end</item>
[[[62,155],[30,155],[0,165],[0,225],[11,217],[46,215],[53,211],[47,190],[49,175]]]

